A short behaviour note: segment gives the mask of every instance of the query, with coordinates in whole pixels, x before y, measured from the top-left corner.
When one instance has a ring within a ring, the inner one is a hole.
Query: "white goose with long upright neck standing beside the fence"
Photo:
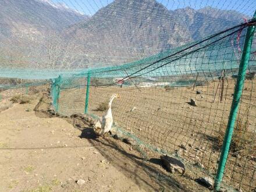
[[[108,133],[111,130],[113,124],[111,105],[113,99],[118,97],[118,94],[113,94],[111,96],[111,98],[109,99],[108,111],[106,111],[106,115],[102,116],[101,118],[99,118],[99,120],[97,120],[97,122],[95,122],[94,131],[98,136],[103,136],[105,133]]]

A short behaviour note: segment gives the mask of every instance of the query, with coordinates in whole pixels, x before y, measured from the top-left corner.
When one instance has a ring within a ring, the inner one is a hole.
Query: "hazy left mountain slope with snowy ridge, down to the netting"
[[[63,3],[50,0],[0,0],[0,10],[2,67],[55,65],[56,55],[59,59],[65,46],[59,33],[89,18]]]

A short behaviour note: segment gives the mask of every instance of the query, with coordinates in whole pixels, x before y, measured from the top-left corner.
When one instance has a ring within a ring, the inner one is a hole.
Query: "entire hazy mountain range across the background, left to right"
[[[51,0],[0,0],[0,10],[0,58],[54,68],[121,65],[246,17],[211,7],[168,10],[155,0],[115,0],[91,17]]]

